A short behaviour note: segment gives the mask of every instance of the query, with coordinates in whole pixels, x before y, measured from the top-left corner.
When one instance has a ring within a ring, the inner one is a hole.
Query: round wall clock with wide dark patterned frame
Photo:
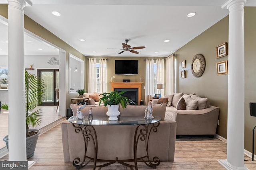
[[[191,62],[191,71],[195,77],[200,77],[204,73],[205,60],[202,54],[197,54]]]

